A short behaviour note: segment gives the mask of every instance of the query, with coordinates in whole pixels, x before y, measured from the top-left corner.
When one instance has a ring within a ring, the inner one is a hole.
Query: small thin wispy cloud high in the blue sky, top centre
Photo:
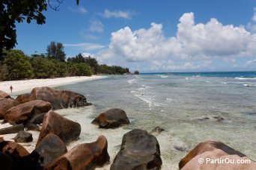
[[[104,13],[100,13],[100,16],[103,16],[104,18],[123,18],[123,19],[131,19],[132,18],[132,12],[129,11],[122,11],[122,10],[104,10]]]

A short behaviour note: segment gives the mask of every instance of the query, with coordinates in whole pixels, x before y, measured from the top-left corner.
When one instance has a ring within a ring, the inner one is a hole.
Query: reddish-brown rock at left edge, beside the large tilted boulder
[[[7,110],[16,105],[19,105],[18,101],[11,98],[0,98],[0,119],[4,119]]]

